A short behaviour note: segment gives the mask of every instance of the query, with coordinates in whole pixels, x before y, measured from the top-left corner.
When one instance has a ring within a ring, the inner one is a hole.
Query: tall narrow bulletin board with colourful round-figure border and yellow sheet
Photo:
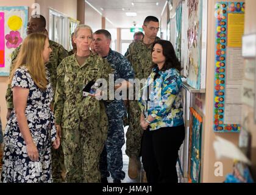
[[[215,5],[215,132],[240,132],[244,8],[244,2],[218,2]]]

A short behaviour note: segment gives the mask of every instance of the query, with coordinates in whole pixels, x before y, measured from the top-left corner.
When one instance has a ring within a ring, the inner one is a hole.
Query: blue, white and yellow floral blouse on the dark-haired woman
[[[148,118],[151,115],[155,118],[150,124],[150,130],[184,124],[181,88],[182,80],[177,69],[153,69],[141,89],[142,96],[139,99],[144,116]]]

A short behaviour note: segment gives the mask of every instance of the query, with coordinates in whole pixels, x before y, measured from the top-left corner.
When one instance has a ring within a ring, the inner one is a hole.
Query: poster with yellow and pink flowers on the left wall
[[[26,37],[28,7],[0,7],[0,76],[9,76],[11,54]]]

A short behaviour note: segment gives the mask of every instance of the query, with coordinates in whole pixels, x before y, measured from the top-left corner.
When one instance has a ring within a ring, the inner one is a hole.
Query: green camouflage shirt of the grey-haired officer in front
[[[62,128],[85,129],[83,120],[93,118],[96,123],[101,120],[102,101],[91,96],[83,96],[83,88],[91,80],[108,80],[113,69],[107,60],[99,55],[90,54],[84,64],[79,66],[76,54],[66,57],[57,68],[57,89],[55,92],[54,116],[56,124]]]

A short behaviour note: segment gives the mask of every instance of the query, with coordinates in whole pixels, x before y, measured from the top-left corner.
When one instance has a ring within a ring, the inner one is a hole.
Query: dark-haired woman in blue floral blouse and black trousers
[[[142,89],[142,162],[149,183],[177,183],[178,151],[185,137],[180,62],[169,41],[152,46],[152,73]]]

